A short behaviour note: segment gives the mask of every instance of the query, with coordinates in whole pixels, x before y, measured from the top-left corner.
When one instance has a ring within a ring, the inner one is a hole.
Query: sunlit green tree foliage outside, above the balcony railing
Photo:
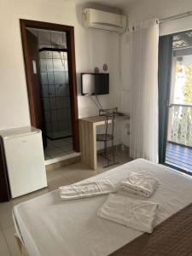
[[[185,83],[183,85],[183,95],[185,103],[192,103],[192,64],[185,69]]]

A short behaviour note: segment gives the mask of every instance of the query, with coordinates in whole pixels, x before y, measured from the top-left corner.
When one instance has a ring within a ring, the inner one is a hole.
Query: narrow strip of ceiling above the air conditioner
[[[68,0],[76,3],[92,3],[102,6],[108,6],[118,9],[123,9],[129,6],[131,3],[137,3],[143,0]]]

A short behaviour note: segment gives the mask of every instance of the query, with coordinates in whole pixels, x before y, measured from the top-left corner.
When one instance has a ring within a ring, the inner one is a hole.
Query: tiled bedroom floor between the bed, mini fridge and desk
[[[117,154],[116,160],[119,162],[119,165],[130,161],[129,157],[124,152]],[[95,176],[96,174],[106,172],[108,169],[115,167],[110,166],[103,169],[103,165],[105,165],[105,160],[102,159],[102,157],[98,157],[98,168],[96,171],[92,171],[81,163],[78,163],[73,166],[67,166],[48,172],[48,188],[38,190],[37,192],[29,195],[21,196],[20,198],[16,198],[9,202],[0,203],[0,256],[20,256],[20,252],[14,238],[15,227],[12,219],[13,206],[22,201],[26,201],[38,195],[43,195],[49,191],[55,190],[61,185],[76,183],[84,178]]]

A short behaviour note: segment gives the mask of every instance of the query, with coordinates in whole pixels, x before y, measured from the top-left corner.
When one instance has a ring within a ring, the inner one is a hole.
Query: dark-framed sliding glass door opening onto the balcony
[[[160,38],[160,163],[192,173],[192,32]]]

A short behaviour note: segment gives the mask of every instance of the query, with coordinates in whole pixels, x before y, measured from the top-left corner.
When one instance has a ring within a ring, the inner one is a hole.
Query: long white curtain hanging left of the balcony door
[[[130,26],[131,141],[133,159],[158,162],[158,43],[156,19]]]

